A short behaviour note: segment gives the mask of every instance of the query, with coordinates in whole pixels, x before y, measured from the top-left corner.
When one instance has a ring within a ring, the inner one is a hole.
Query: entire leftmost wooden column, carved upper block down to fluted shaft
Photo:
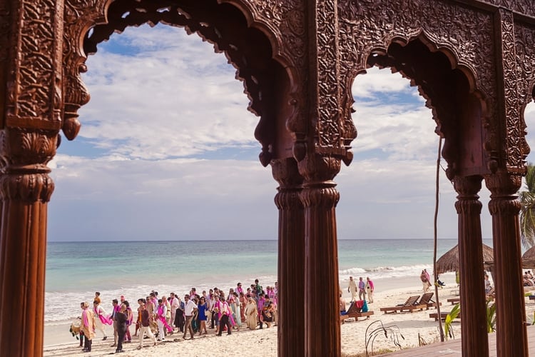
[[[42,356],[46,214],[63,106],[63,0],[0,4],[0,355]]]

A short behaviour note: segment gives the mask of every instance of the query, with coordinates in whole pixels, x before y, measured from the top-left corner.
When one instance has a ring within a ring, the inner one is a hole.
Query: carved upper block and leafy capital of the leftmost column
[[[0,195],[49,201],[54,183],[46,164],[56,154],[63,104],[63,8],[54,0],[8,2],[0,5]]]

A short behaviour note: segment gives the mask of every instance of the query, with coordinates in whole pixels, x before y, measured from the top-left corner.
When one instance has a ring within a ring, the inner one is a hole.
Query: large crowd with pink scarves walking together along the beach
[[[123,343],[131,343],[132,337],[138,337],[138,348],[143,348],[143,340],[148,338],[153,346],[158,341],[173,333],[182,333],[182,338],[193,340],[195,335],[205,335],[209,328],[216,336],[228,335],[240,328],[255,330],[260,326],[269,328],[277,321],[277,283],[260,286],[258,279],[250,287],[243,288],[237,283],[225,293],[219,288],[202,291],[196,288],[186,293],[183,300],[175,293],[159,296],[158,291],[151,291],[148,296],[138,298],[136,313],[131,303],[124,296],[112,300],[111,313],[106,313],[102,306],[101,293],[96,292],[93,308],[88,302],[81,303],[80,346],[84,352],[91,351],[91,343],[100,331],[103,340],[108,338],[106,325],[113,325],[113,345],[116,353],[123,352]],[[135,326],[131,335],[131,326]]]

